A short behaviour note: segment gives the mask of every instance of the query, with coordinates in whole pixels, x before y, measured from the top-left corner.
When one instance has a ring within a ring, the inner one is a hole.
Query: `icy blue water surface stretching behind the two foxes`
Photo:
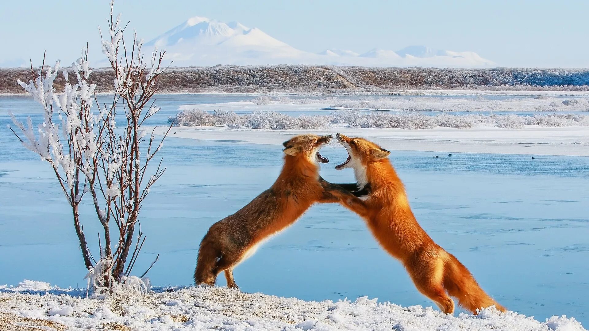
[[[195,104],[197,98],[214,103],[250,97],[158,96],[163,112],[150,124],[164,124],[178,105]],[[70,211],[51,170],[5,127],[7,109],[25,115],[34,112],[33,105],[23,97],[0,97],[0,284],[34,279],[85,287]],[[347,156],[335,146],[323,148],[322,154],[331,160],[322,165],[323,177],[351,181],[351,170],[333,169]],[[439,155],[391,154],[426,231],[508,309],[538,320],[575,316],[586,327],[589,159]],[[153,284],[191,284],[198,243],[208,227],[273,183],[282,152],[272,145],[172,136],[161,156],[167,172],[144,207],[141,230],[147,241],[135,273],[143,273],[160,254],[148,274]],[[84,231],[95,248],[95,215],[90,208],[84,213],[92,217]],[[336,204],[313,207],[240,264],[234,275],[245,292],[305,300],[367,295],[402,306],[432,306],[401,265],[379,248],[363,221]],[[219,284],[224,284],[224,277]]]

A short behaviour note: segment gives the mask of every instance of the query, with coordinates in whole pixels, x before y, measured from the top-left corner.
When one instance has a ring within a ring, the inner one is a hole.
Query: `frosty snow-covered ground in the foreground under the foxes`
[[[306,302],[224,287],[157,288],[125,299],[86,299],[71,290],[32,295],[24,283],[0,289],[0,329],[21,330],[509,330],[586,331],[574,318],[544,322],[493,308],[472,316],[377,299]],[[32,289],[30,289],[32,290]]]

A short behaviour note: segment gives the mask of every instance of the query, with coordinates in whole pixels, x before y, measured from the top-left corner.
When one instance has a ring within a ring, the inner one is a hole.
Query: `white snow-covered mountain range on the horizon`
[[[195,16],[145,44],[166,49],[174,66],[217,64],[333,64],[368,67],[494,67],[475,52],[453,52],[411,46],[399,51],[373,49],[363,54],[326,49],[318,54],[296,49],[260,29],[239,22]]]

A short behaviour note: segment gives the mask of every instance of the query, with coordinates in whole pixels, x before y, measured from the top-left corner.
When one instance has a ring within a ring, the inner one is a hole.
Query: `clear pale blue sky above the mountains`
[[[588,1],[118,0],[115,12],[148,41],[191,16],[239,21],[293,47],[359,53],[425,45],[474,51],[503,67],[589,67]],[[98,51],[106,0],[4,1],[0,64],[74,60]]]

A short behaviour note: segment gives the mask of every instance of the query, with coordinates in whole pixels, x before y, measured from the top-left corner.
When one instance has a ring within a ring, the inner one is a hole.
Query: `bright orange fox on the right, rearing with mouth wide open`
[[[433,300],[444,313],[454,313],[454,301],[447,294],[456,297],[460,306],[474,314],[477,309],[492,305],[505,312],[503,306],[481,289],[468,269],[434,243],[419,226],[409,207],[405,187],[388,159],[391,152],[363,138],[338,133],[336,139],[348,151],[348,159],[335,168],[353,168],[359,186],[371,190],[358,213],[379,244],[401,260],[419,292]]]

